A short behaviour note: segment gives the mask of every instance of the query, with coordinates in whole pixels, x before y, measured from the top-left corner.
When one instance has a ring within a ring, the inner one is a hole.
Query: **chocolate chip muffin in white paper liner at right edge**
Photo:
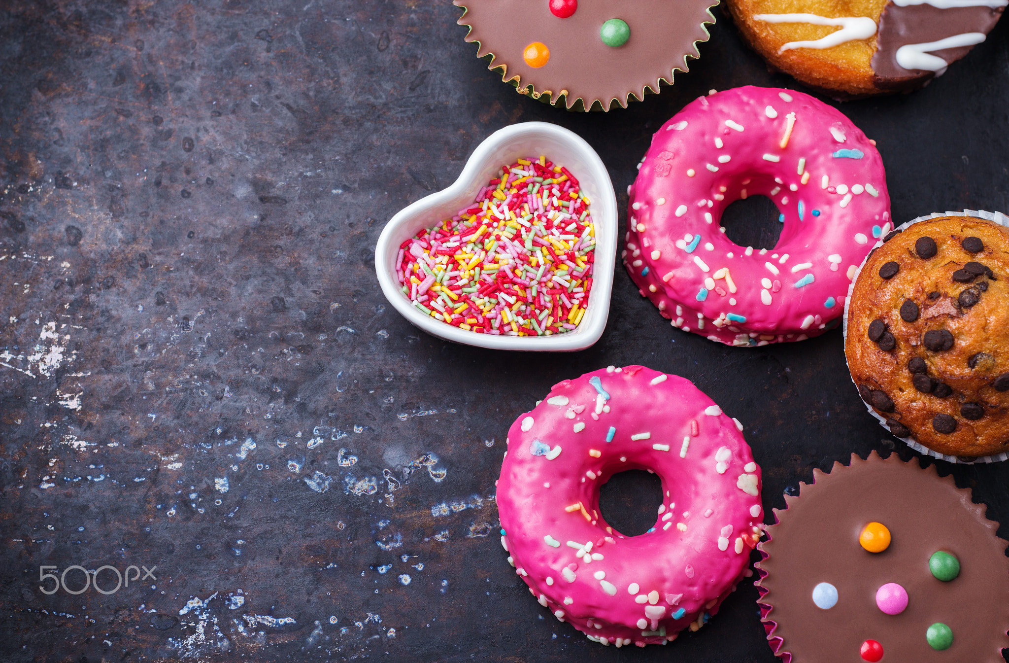
[[[897,437],[1009,451],[1009,230],[946,216],[890,233],[856,280],[845,354]]]

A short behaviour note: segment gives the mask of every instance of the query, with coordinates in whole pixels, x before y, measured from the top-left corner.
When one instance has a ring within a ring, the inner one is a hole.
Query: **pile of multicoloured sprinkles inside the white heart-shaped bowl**
[[[476,333],[577,329],[595,259],[588,206],[567,169],[545,156],[520,158],[473,205],[400,245],[403,294],[425,314]]]

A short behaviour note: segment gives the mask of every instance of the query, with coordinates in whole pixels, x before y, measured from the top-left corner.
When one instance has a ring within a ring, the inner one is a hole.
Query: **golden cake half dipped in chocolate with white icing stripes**
[[[1006,0],[728,0],[768,64],[839,98],[919,88],[985,40]]]

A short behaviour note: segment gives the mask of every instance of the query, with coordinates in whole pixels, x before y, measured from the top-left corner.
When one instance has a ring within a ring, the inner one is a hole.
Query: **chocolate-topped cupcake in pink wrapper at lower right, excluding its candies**
[[[791,663],[854,663],[866,640],[883,645],[882,663],[1004,663],[1009,647],[1009,559],[998,524],[986,507],[971,501],[934,465],[922,470],[892,454],[868,460],[852,455],[829,474],[813,470],[814,483],[800,484],[788,509],[775,510],[778,523],[758,544],[758,586],[768,640]],[[859,534],[871,522],[891,533],[889,548],[870,553]],[[943,550],[960,560],[949,582],[928,570],[928,558]],[[836,605],[817,607],[812,590],[820,582],[837,588]],[[897,582],[908,593],[907,609],[886,615],[876,590]],[[766,593],[765,593],[766,592]],[[936,622],[952,630],[949,649],[936,651],[925,631]]]

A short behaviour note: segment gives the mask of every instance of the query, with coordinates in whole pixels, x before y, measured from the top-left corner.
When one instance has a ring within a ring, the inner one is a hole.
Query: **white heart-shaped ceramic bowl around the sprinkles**
[[[595,267],[592,293],[578,328],[552,336],[494,336],[453,327],[425,315],[400,290],[396,257],[400,244],[423,228],[450,219],[472,204],[480,188],[496,177],[497,171],[517,158],[545,154],[563,164],[576,178],[591,201],[595,222]],[[477,145],[452,186],[431,194],[401,210],[389,220],[375,246],[375,271],[385,299],[407,320],[433,336],[466,345],[498,350],[570,352],[589,347],[602,335],[609,315],[616,256],[616,196],[602,159],[577,134],[547,122],[523,122],[493,132]]]

